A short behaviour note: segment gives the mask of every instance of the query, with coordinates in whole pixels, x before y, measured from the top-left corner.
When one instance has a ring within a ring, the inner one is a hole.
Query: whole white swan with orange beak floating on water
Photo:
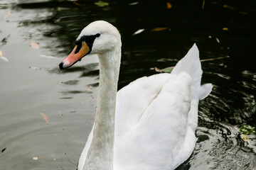
[[[106,21],[86,26],[73,51],[60,62],[71,67],[97,54],[100,91],[95,123],[78,170],[171,170],[190,157],[196,144],[198,101],[212,84],[201,86],[196,44],[171,74],[142,77],[117,92],[121,35]]]

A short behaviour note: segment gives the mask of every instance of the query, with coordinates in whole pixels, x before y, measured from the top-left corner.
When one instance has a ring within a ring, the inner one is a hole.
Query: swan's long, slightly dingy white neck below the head
[[[115,50],[98,55],[100,60],[100,93],[95,128],[84,169],[113,170],[114,113],[121,60],[121,43]]]

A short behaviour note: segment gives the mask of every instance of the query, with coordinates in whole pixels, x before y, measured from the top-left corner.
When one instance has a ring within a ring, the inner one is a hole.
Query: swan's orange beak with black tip
[[[60,62],[60,69],[66,69],[68,67],[71,67],[73,64],[81,60],[82,57],[85,57],[88,52],[90,52],[90,47],[88,47],[85,41],[82,41],[82,47],[80,48],[79,52],[76,52],[77,48],[78,45],[75,45],[72,52],[70,52],[70,55],[68,55],[68,57],[65,57],[65,59]]]

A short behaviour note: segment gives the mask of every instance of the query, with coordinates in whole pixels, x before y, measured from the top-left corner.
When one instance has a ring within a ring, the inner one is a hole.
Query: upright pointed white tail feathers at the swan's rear
[[[192,77],[191,96],[192,99],[206,98],[213,88],[212,84],[204,84],[201,86],[201,77],[203,71],[199,59],[199,51],[196,43],[191,47],[188,53],[174,67],[171,74],[187,72]]]

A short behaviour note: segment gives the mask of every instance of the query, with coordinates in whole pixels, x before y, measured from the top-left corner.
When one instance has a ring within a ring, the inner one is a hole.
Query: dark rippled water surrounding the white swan
[[[76,169],[94,122],[97,57],[63,72],[58,63],[96,20],[122,34],[119,89],[156,74],[154,67],[173,66],[194,42],[202,60],[225,57],[202,62],[202,81],[214,88],[199,106],[196,148],[178,169],[255,169],[255,133],[249,145],[238,128],[256,127],[256,1],[205,1],[203,9],[203,0],[169,1],[172,8],[166,1],[95,2],[0,1],[0,170]]]

